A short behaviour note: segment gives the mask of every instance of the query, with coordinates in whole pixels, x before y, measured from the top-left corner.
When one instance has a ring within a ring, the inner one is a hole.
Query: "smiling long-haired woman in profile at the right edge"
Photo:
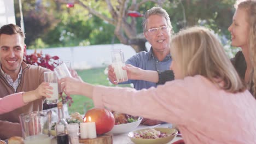
[[[229,27],[232,46],[241,47],[232,58],[232,63],[238,74],[248,84],[250,92],[256,98],[256,1],[243,0],[235,4],[235,14]],[[254,73],[253,73],[254,71]]]

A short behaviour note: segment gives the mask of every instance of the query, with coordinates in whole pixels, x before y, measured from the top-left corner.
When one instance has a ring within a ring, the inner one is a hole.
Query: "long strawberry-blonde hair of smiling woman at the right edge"
[[[247,13],[247,22],[249,23],[248,48],[253,67],[249,86],[252,86],[250,89],[254,98],[256,98],[256,85],[253,85],[253,83],[256,83],[256,1],[236,1],[235,8],[246,10]]]

